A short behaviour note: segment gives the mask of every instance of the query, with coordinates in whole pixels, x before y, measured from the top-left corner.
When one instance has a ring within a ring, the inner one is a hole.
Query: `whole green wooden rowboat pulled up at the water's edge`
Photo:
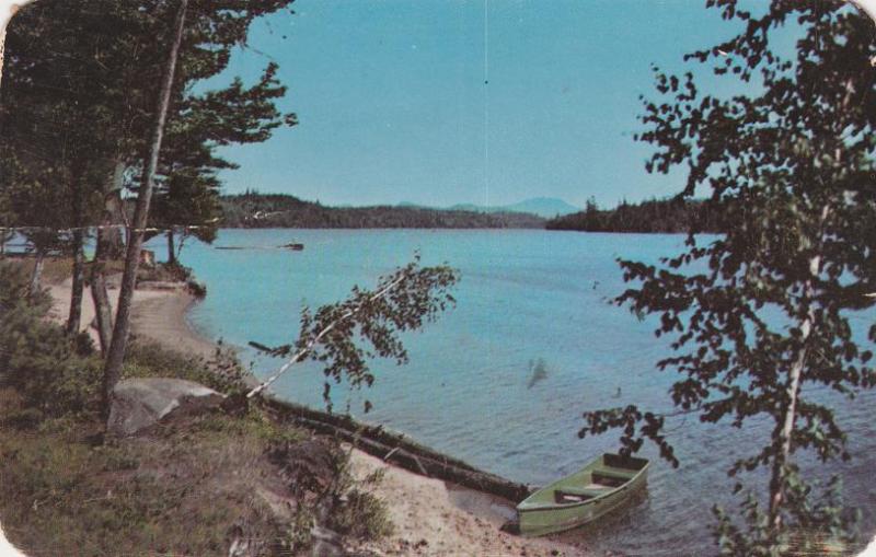
[[[520,533],[541,536],[562,532],[608,514],[645,486],[648,465],[646,459],[604,453],[518,504]]]

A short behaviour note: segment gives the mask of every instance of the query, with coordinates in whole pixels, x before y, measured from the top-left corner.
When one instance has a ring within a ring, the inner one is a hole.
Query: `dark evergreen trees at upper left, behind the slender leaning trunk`
[[[274,104],[286,89],[277,81],[277,67],[273,63],[251,88],[234,80],[223,90],[194,94],[194,83],[227,68],[231,50],[245,44],[249,24],[255,18],[289,3],[290,0],[257,0],[245,7],[232,0],[193,3],[181,47],[180,71],[171,89],[166,152],[155,179],[159,197],[166,189],[162,185],[182,183],[172,177],[175,172],[192,178],[187,192],[194,193],[194,186],[204,188],[197,195],[171,195],[168,200],[194,204],[187,209],[174,207],[170,212],[186,217],[183,223],[199,224],[198,234],[205,240],[215,235],[215,230],[208,228],[215,219],[216,204],[210,210],[205,204],[205,199],[215,198],[215,171],[233,167],[214,155],[215,148],[264,141],[276,127],[295,124],[295,115],[280,113]],[[173,2],[164,0],[135,4],[118,0],[38,2],[20,13],[10,30],[7,96],[0,105],[4,134],[0,142],[5,141],[7,152],[20,159],[21,151],[27,151],[27,169],[57,167],[57,186],[69,192],[70,202],[61,206],[69,212],[62,219],[67,225],[92,224],[100,214],[104,216],[103,225],[120,224],[117,209],[123,189],[139,188],[139,182],[130,178],[146,166],[154,83],[160,81],[163,45],[168,43],[173,11]],[[111,210],[113,205],[115,211]],[[169,208],[168,202],[160,205]],[[157,220],[173,224],[160,216]],[[61,220],[54,222],[60,228]],[[111,228],[97,235],[97,258],[91,278],[99,316],[108,313],[103,268],[107,257],[118,254],[118,242],[113,242],[117,237]],[[68,321],[68,328],[73,332],[79,328],[84,283],[84,233],[74,229],[67,240],[74,262]],[[108,340],[111,320],[97,321],[101,339]]]

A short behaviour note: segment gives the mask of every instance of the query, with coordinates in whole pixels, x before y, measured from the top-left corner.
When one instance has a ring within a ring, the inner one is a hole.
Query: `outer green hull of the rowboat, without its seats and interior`
[[[591,481],[593,471],[607,469],[598,467],[602,464],[603,459],[604,455],[588,464],[583,471],[537,491],[521,502],[517,507],[520,534],[525,536],[541,536],[581,526],[622,507],[632,494],[645,487],[648,463],[644,460],[637,460],[644,461],[645,464],[638,471],[631,471],[627,474],[630,477],[622,485],[604,489],[599,495],[589,497],[580,502],[557,502],[554,504],[538,502],[539,497],[544,499],[545,492],[550,492],[553,496],[554,491],[562,490],[564,486],[573,486],[576,481]],[[608,468],[608,471],[611,469]],[[599,472],[596,473],[598,474]],[[576,478],[576,476],[578,477]],[[532,501],[533,499],[535,501]]]

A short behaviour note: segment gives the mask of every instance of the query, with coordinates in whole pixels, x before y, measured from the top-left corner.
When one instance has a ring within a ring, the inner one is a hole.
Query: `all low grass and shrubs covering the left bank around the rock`
[[[45,320],[45,295],[20,295],[26,282],[20,265],[0,264],[0,517],[25,552],[298,554],[314,525],[344,545],[391,532],[335,442],[279,426],[258,404],[104,438],[101,359]],[[228,355],[205,362],[138,343],[123,376],[244,388]]]

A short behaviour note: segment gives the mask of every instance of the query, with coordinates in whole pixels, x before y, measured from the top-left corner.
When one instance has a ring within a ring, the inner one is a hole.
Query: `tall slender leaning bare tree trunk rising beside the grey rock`
[[[168,117],[168,105],[171,100],[171,89],[173,86],[176,60],[180,55],[180,45],[183,39],[183,28],[185,26],[185,12],[188,0],[180,0],[180,8],[174,22],[174,39],[168,57],[164,70],[164,78],[161,84],[158,106],[155,111],[154,128],[149,144],[149,158],[143,165],[140,190],[137,195],[137,207],[134,212],[134,222],[128,233],[127,253],[125,256],[125,271],[122,276],[122,288],[118,294],[118,309],[116,310],[116,323],[113,328],[113,339],[106,355],[103,376],[103,416],[110,415],[110,405],[113,397],[113,388],[122,375],[122,363],[125,359],[128,334],[130,332],[130,305],[134,299],[134,288],[137,280],[137,268],[140,263],[140,248],[143,242],[143,229],[149,218],[149,204],[152,198],[155,171],[158,169],[159,152],[161,151],[161,140],[164,135],[164,121]]]

